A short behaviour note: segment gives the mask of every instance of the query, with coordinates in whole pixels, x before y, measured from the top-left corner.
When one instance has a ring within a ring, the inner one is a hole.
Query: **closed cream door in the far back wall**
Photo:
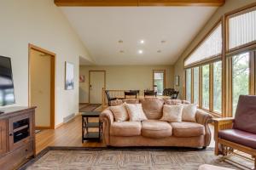
[[[105,88],[105,71],[90,71],[90,104],[102,104],[102,88]]]

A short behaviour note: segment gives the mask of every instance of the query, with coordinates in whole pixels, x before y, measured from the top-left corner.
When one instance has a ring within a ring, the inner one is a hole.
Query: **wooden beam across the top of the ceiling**
[[[55,0],[57,6],[221,6],[225,0]]]

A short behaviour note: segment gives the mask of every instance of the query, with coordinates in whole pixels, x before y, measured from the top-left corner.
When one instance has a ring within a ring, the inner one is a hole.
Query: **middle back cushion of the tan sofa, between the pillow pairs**
[[[140,102],[148,119],[160,119],[163,116],[164,99],[144,98]]]

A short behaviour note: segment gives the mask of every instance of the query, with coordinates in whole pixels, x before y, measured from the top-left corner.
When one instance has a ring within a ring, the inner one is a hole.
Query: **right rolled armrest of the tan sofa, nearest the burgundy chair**
[[[197,110],[195,117],[196,117],[196,122],[200,123],[201,125],[204,125],[205,127],[206,134],[205,134],[204,146],[207,147],[211,143],[211,139],[212,139],[212,133],[209,127],[209,123],[212,122],[212,116],[206,111]]]

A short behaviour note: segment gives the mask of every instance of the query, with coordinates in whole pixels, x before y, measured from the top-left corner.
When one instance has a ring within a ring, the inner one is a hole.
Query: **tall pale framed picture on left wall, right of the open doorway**
[[[74,88],[73,69],[74,69],[73,64],[66,61],[65,62],[65,89],[66,90],[72,90]]]

